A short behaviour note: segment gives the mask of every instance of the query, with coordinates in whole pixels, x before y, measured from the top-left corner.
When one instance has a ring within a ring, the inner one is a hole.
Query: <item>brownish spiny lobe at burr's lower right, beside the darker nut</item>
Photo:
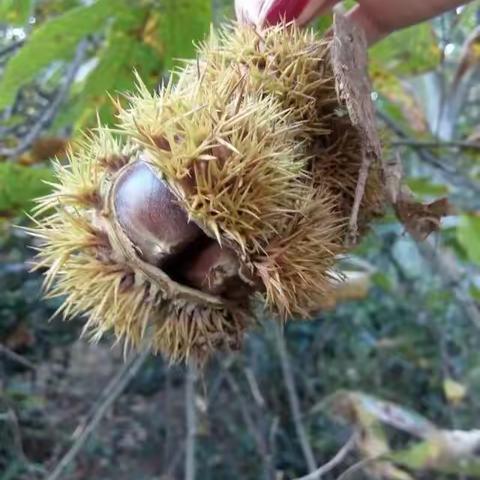
[[[255,259],[265,303],[283,320],[317,313],[331,293],[335,262],[345,251],[345,224],[336,216],[335,201],[325,192],[306,198],[300,212],[287,216],[266,254]]]

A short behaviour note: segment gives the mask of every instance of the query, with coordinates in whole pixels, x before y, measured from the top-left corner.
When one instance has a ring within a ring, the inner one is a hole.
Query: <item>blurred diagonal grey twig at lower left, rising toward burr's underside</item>
[[[111,380],[105,390],[102,392],[104,401],[98,406],[92,419],[85,424],[80,430],[77,429],[77,438],[74,444],[70,447],[67,453],[62,457],[55,469],[50,473],[46,480],[59,480],[62,477],[64,470],[79,454],[90,435],[95,431],[98,424],[102,420],[107,410],[117,400],[125,387],[130,383],[132,378],[137,374],[145,360],[149,356],[149,351],[145,349],[138,353],[121,368],[118,374]]]

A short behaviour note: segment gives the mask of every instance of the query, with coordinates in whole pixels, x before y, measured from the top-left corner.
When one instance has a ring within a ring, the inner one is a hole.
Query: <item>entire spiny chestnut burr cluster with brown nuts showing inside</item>
[[[57,162],[39,201],[37,267],[61,312],[178,360],[237,348],[255,297],[282,319],[318,311],[365,153],[331,50],[294,25],[234,25],[159,93],[139,79],[116,136],[99,127]],[[370,170],[361,230],[382,203]]]

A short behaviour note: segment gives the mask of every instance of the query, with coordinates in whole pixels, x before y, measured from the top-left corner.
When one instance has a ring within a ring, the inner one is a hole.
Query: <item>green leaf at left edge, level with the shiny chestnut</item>
[[[33,200],[50,191],[45,181],[54,176],[49,168],[33,168],[14,163],[0,163],[0,214],[11,217],[29,211]]]

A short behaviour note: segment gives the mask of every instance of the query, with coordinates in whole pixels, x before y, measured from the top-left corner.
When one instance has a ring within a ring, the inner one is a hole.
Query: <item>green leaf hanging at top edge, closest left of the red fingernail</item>
[[[195,55],[194,42],[203,40],[212,21],[210,0],[165,0],[162,2],[159,35],[164,45],[165,68],[178,59]]]

